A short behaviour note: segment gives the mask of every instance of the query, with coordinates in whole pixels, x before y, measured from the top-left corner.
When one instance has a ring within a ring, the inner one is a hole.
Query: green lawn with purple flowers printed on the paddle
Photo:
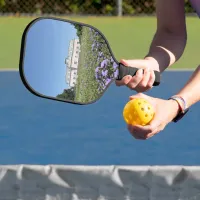
[[[89,103],[98,99],[114,78],[117,64],[102,36],[88,28],[82,29],[81,52],[76,84],[76,102]]]

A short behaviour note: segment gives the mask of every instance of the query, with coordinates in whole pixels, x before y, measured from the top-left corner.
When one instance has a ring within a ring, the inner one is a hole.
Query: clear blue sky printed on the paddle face
[[[69,88],[65,82],[65,59],[70,40],[78,38],[68,22],[42,19],[28,31],[24,73],[29,85],[38,93],[56,97]]]

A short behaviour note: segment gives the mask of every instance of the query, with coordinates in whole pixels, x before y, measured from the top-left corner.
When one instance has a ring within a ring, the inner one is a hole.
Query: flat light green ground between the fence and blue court
[[[21,36],[33,18],[0,18],[0,68],[18,68]],[[153,37],[154,17],[69,18],[97,27],[108,39],[115,57],[142,58]],[[183,57],[173,68],[194,68],[200,63],[200,22],[198,18],[187,18],[188,44]]]

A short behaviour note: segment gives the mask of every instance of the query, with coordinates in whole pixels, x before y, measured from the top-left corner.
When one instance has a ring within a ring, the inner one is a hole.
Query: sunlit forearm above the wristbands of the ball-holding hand
[[[186,85],[177,95],[186,100],[188,107],[200,101],[200,66],[197,67]]]

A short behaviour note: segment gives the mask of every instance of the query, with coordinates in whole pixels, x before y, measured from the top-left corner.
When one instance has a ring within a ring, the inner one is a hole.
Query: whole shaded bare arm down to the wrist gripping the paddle
[[[159,71],[163,72],[181,57],[186,46],[185,1],[156,0],[155,2],[157,31],[146,59],[156,60]]]

